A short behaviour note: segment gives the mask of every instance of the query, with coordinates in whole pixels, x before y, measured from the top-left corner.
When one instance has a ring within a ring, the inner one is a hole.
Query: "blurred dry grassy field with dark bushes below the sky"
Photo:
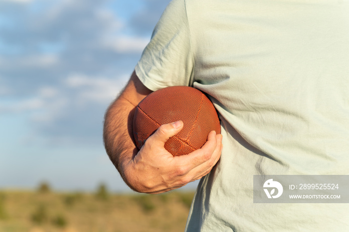
[[[180,232],[193,194],[0,190],[0,232]]]

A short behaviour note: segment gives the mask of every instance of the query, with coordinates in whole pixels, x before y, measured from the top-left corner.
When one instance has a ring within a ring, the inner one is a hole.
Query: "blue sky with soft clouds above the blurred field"
[[[0,0],[0,189],[130,191],[103,116],[168,3]]]

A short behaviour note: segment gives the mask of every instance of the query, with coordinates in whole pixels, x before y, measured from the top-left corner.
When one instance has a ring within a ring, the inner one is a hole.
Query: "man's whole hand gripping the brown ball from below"
[[[222,151],[222,136],[211,131],[201,149],[188,155],[173,156],[165,142],[183,127],[181,121],[162,125],[138,154],[125,163],[125,179],[138,192],[162,193],[206,175],[217,163]]]

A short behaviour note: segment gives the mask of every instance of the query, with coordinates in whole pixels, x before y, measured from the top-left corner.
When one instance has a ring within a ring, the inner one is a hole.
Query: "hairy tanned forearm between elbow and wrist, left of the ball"
[[[108,108],[104,121],[103,140],[106,152],[126,183],[123,166],[138,152],[132,139],[135,107],[121,95]]]

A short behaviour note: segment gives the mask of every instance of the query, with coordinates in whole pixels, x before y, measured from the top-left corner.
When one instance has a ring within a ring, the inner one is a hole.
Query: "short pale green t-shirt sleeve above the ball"
[[[173,0],[157,23],[135,71],[149,89],[192,84],[194,59],[184,0]]]

